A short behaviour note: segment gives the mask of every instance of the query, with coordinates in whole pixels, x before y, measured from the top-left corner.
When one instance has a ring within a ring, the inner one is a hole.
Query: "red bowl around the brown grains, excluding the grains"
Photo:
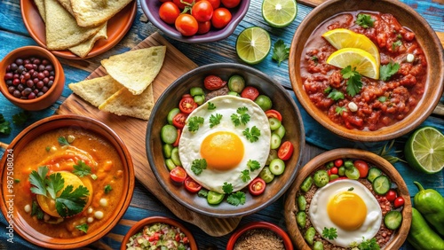
[[[248,223],[241,229],[234,231],[232,236],[228,239],[226,250],[233,250],[234,246],[236,245],[236,241],[249,230],[271,230],[282,239],[283,245],[285,246],[286,250],[293,250],[293,244],[291,243],[289,235],[274,223],[266,222]]]

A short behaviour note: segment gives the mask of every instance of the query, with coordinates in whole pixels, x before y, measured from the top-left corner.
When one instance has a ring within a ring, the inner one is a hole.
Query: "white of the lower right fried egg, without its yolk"
[[[337,193],[348,191],[350,188],[353,188],[353,192],[361,197],[367,207],[367,216],[364,223],[359,229],[353,231],[342,230],[333,223],[329,218],[327,209],[330,199]],[[365,239],[374,238],[382,222],[382,211],[377,199],[363,184],[354,180],[339,180],[320,188],[313,195],[308,213],[314,229],[319,234],[322,235],[324,227],[336,228],[337,238],[326,239],[332,244],[343,247],[348,247],[353,242],[360,244],[362,237]]]

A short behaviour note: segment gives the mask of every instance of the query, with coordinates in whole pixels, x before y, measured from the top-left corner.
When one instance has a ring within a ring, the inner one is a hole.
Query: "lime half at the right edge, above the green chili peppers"
[[[438,129],[417,129],[407,141],[404,149],[410,167],[427,174],[444,168],[444,136]]]

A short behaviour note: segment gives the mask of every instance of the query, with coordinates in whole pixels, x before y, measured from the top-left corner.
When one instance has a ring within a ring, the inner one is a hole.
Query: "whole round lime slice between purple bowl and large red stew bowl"
[[[257,64],[270,52],[270,35],[261,27],[247,27],[237,37],[236,52],[248,64]]]

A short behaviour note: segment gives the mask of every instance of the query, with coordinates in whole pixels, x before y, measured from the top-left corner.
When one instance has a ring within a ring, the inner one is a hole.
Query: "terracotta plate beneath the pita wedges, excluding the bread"
[[[118,12],[107,23],[107,39],[99,39],[85,58],[76,56],[71,51],[52,51],[60,58],[65,59],[89,59],[95,57],[115,46],[122,40],[123,36],[131,27],[132,21],[136,18],[137,1],[132,1],[121,12]],[[33,0],[20,0],[21,16],[28,29],[29,35],[40,46],[46,48],[46,37],[44,31],[44,20],[40,17],[36,4]]]

